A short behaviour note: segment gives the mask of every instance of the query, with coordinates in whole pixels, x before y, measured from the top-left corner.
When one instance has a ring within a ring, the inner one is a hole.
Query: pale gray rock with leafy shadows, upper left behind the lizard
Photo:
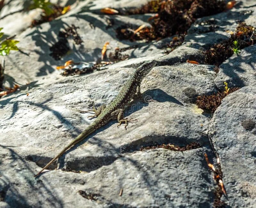
[[[118,16],[114,18],[116,22],[115,28],[128,22],[139,25],[145,23],[138,20],[138,18],[139,16],[134,18]],[[20,40],[18,47],[23,53],[11,51],[10,55],[5,57],[5,85],[10,87],[13,81],[16,81],[21,85],[31,82],[32,84],[28,86],[33,89],[38,85],[43,87],[42,85],[45,86],[65,78],[56,70],[57,65],[63,65],[71,59],[74,62],[100,60],[101,49],[107,41],[110,42],[109,51],[114,51],[117,46],[122,48],[135,44],[116,39],[115,28],[106,29],[107,19],[107,15],[100,15],[100,20],[98,20],[98,15],[96,14],[83,13],[80,16],[63,17],[59,20],[44,23],[39,27],[28,28],[16,38]],[[94,29],[91,28],[90,23],[95,26]],[[50,56],[50,47],[59,40],[59,31],[71,24],[80,26],[77,31],[83,40],[83,44],[76,45],[73,40],[69,40],[68,46],[71,53],[64,56],[62,60],[56,61]],[[100,41],[98,37],[101,37]],[[158,49],[156,50],[158,51]],[[154,53],[154,51],[151,52]],[[148,55],[148,53],[139,54],[139,56],[145,55]]]

